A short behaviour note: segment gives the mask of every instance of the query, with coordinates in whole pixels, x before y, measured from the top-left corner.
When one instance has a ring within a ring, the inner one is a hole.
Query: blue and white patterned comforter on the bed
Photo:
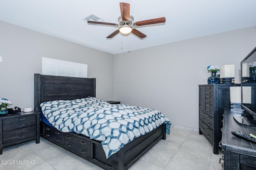
[[[106,158],[162,123],[166,123],[166,133],[170,133],[170,121],[154,109],[113,105],[96,98],[55,100],[40,106],[46,119],[59,131],[74,131],[102,141]]]

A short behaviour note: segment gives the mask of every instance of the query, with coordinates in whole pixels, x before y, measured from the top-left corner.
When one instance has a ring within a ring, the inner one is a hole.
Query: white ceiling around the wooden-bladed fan
[[[118,34],[117,28],[88,25],[94,14],[118,23],[120,2],[134,21],[165,17],[164,25],[137,28],[147,37]],[[256,25],[256,0],[0,0],[0,20],[112,54]]]

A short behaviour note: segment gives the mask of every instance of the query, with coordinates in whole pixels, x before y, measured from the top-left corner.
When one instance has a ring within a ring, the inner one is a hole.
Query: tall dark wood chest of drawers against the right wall
[[[223,111],[230,108],[229,87],[234,84],[199,85],[199,134],[204,135],[218,154]]]

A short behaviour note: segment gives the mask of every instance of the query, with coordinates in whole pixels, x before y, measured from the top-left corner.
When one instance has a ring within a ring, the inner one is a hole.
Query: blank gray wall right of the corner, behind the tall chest
[[[255,27],[114,56],[114,99],[161,111],[174,125],[198,129],[198,84],[210,64],[235,64],[256,46]]]

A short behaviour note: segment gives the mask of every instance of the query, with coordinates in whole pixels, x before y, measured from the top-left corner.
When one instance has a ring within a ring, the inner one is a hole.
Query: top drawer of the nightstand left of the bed
[[[36,115],[21,116],[3,120],[3,131],[36,125]]]

